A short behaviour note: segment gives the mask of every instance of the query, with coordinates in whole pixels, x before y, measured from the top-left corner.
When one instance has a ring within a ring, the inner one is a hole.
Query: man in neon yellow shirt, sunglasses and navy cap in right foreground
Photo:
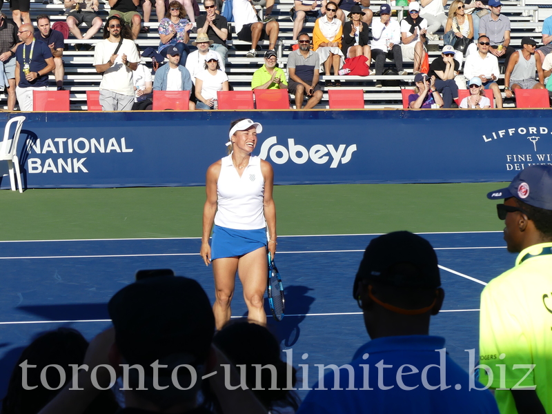
[[[526,166],[487,198],[504,199],[498,218],[519,254],[481,294],[480,379],[502,414],[551,413],[552,166]]]

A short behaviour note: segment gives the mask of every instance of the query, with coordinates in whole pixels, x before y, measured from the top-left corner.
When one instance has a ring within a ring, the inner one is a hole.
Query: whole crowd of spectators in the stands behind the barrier
[[[98,14],[98,0],[65,0],[66,23],[57,21],[52,26],[50,17],[41,14],[36,28],[30,21],[28,0],[10,3],[12,19],[0,15],[0,66],[8,110],[14,110],[16,102],[20,110],[32,110],[33,91],[52,88],[50,74],[57,90],[65,89],[63,52],[69,33],[78,40],[76,50],[94,49],[93,65],[102,75],[99,99],[103,110],[151,109],[153,90],[188,91],[190,110],[217,109],[217,92],[233,90],[225,69],[230,25],[235,39],[250,43],[246,57],[257,57],[262,50],[259,42],[266,44],[264,65],[253,74],[251,89],[285,88],[295,97],[297,109],[317,106],[324,88],[341,86],[347,75],[376,75],[376,88],[392,84],[386,77],[399,82],[408,75],[407,61],[413,62],[415,75],[409,108],[458,108],[458,91],[471,95],[471,86],[481,88],[473,96],[491,97],[494,108],[502,108],[504,97],[513,97],[517,89],[552,89],[552,82],[548,84],[552,57],[546,59],[552,50],[552,17],[544,21],[543,46],[524,37],[521,48],[515,50],[510,46],[511,23],[501,12],[500,0],[486,4],[454,0],[448,14],[446,0],[410,1],[400,20],[386,3],[373,12],[369,0],[295,0],[293,40],[297,44],[290,46],[285,68],[278,67],[282,53],[279,23],[270,15],[273,1],[204,0],[203,13],[197,0],[108,3],[105,23]],[[264,19],[255,5],[266,8]],[[150,31],[152,6],[159,21],[159,46],[139,50],[137,37]],[[307,22],[314,23],[312,32],[304,28]],[[86,43],[102,25],[103,40]],[[80,26],[86,26],[84,34]],[[442,54],[430,63],[428,41],[440,39],[439,30],[445,33]],[[192,33],[195,40],[190,41]],[[393,67],[386,69],[386,61]],[[497,83],[501,73],[504,92]],[[333,80],[322,84],[321,75],[333,76]],[[154,82],[157,77],[160,81]],[[480,86],[472,82],[475,77]]]

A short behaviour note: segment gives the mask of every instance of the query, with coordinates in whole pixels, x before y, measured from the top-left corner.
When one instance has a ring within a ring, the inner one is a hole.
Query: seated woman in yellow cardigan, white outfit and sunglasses
[[[337,76],[344,63],[341,51],[343,26],[341,20],[335,17],[336,13],[337,4],[328,1],[326,14],[317,19],[313,30],[313,48],[320,58],[320,70],[324,70],[326,76],[330,75],[331,68],[333,75]],[[332,86],[331,81],[326,81],[325,86]],[[339,80],[335,81],[335,86],[341,86]]]

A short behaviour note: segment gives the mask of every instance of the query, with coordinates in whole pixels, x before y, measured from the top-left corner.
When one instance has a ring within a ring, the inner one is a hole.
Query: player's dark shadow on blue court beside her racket
[[[284,297],[286,298],[285,316],[282,322],[278,322],[272,317],[268,299],[264,302],[264,310],[266,311],[268,329],[278,338],[279,342],[283,342],[286,347],[293,346],[301,335],[299,324],[303,322],[311,305],[315,302],[315,298],[307,295],[311,288],[306,286],[286,286],[284,287]]]

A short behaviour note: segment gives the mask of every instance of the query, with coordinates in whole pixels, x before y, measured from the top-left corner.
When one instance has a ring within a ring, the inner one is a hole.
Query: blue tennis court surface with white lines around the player
[[[465,349],[477,353],[479,298],[484,284],[513,266],[502,232],[426,233],[437,251],[445,300],[431,333],[446,337],[453,359],[468,369]],[[368,341],[352,297],[364,248],[376,235],[278,238],[275,257],[286,293],[283,322],[268,319],[293,364],[346,364]],[[134,280],[136,270],[172,268],[192,277],[214,299],[213,273],[199,257],[200,239],[117,239],[0,242],[0,397],[24,346],[34,335],[59,326],[91,339],[109,326],[107,302]],[[268,301],[265,301],[268,302]],[[268,311],[268,305],[265,304]],[[233,315],[246,315],[236,284]],[[305,356],[304,354],[308,354]],[[302,359],[305,357],[305,359]],[[299,371],[299,375],[301,372]]]

